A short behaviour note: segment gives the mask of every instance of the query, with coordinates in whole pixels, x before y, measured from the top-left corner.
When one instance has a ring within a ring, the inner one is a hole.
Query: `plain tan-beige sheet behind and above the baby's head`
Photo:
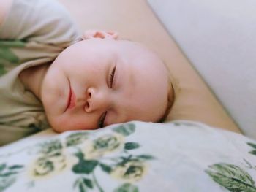
[[[196,120],[241,132],[159,23],[146,1],[59,1],[69,9],[81,32],[94,28],[118,31],[122,38],[147,45],[165,61],[176,93],[176,101],[167,121]]]

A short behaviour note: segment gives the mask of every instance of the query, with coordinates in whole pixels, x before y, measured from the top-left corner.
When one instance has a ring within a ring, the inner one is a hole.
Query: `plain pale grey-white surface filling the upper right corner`
[[[148,2],[236,123],[256,139],[256,1]]]

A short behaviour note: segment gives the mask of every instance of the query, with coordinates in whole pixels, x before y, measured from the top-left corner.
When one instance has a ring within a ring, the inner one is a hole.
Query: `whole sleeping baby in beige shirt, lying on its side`
[[[49,127],[165,119],[173,86],[154,52],[114,31],[78,38],[56,1],[0,1],[0,145]]]

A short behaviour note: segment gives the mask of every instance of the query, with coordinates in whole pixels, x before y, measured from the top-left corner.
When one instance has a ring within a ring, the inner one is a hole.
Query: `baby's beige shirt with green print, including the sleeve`
[[[18,75],[52,63],[76,38],[74,22],[57,1],[13,0],[0,26],[0,146],[49,128],[42,103]]]

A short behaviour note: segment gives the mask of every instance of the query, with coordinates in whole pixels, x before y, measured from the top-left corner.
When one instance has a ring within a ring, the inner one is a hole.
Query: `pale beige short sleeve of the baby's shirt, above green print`
[[[0,26],[0,39],[67,45],[77,37],[69,12],[55,0],[13,0]]]

